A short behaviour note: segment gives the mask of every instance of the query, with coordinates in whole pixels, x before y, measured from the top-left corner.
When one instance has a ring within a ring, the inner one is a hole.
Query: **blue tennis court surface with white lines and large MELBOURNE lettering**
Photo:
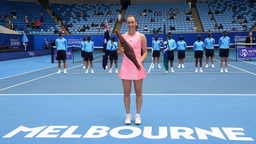
[[[218,61],[215,69],[203,62],[204,73],[194,62],[177,69],[175,60],[175,73],[144,63],[142,124],[125,125],[122,81],[96,63],[102,57],[94,74],[82,63],[56,74],[50,57],[0,62],[1,144],[255,144],[255,61],[229,61],[229,73]]]

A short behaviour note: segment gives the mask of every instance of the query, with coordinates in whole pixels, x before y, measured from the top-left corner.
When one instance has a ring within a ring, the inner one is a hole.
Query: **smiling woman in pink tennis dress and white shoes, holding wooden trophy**
[[[137,69],[134,63],[128,59],[128,57],[123,54],[124,48],[121,47],[120,41],[118,40],[118,54],[123,55],[122,66],[119,72],[119,77],[122,79],[124,87],[124,105],[126,109],[126,119],[125,124],[131,124],[132,117],[130,113],[130,94],[131,94],[131,84],[132,80],[134,83],[134,90],[136,93],[136,107],[137,113],[135,116],[135,124],[141,124],[140,118],[140,109],[142,105],[142,81],[147,76],[142,62],[147,56],[147,40],[144,34],[136,32],[137,19],[133,15],[127,17],[127,27],[128,32],[123,34],[124,39],[132,46],[133,51],[136,55],[136,59],[140,65],[140,68]],[[141,47],[143,51],[143,56],[141,56]]]

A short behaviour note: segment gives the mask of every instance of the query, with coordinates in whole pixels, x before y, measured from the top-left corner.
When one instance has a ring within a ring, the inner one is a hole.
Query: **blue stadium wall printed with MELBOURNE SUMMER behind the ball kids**
[[[254,31],[255,32],[255,31]],[[253,33],[254,33],[253,32]],[[152,47],[152,41],[154,40],[154,36],[158,35],[159,41],[163,44],[163,34],[145,34],[147,39],[147,47]],[[173,39],[177,42],[179,36],[182,35],[184,37],[184,41],[187,43],[187,46],[193,46],[194,42],[197,41],[197,35],[202,36],[202,40],[204,41],[207,38],[207,33],[179,33],[173,34]],[[218,44],[219,38],[222,37],[222,33],[212,33],[213,38],[215,39],[215,44]],[[68,46],[80,46],[82,38],[86,35],[64,35],[63,37],[67,39]],[[116,35],[112,35],[118,39]],[[245,41],[248,36],[248,32],[228,32],[228,37],[230,37],[230,43],[235,43],[235,40]],[[12,48],[23,48],[22,42],[23,35],[19,34],[0,34],[0,45],[11,45]],[[44,38],[50,40],[56,40],[58,35],[30,35],[27,34],[28,38],[28,46],[27,50],[42,50],[44,47]],[[103,35],[91,35],[91,41],[94,42],[95,47],[103,46]]]

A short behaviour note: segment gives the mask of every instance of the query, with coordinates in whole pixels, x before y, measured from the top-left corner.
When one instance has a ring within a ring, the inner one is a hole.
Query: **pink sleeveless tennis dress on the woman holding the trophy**
[[[139,37],[139,33],[136,32],[134,36],[129,36],[126,32],[124,39],[132,46],[136,59],[139,61],[141,58],[141,39]],[[119,72],[119,77],[121,79],[139,80],[146,76],[147,74],[143,65],[141,70],[137,70],[134,63],[125,54],[123,54],[123,62]]]

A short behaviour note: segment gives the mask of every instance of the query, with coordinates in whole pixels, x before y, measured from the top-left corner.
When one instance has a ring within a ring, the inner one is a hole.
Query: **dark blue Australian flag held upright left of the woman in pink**
[[[104,29],[104,43],[103,43],[103,59],[102,59],[102,67],[106,69],[106,64],[108,60],[108,55],[106,55],[106,50],[107,50],[107,43],[110,39],[110,32],[109,32],[109,26],[108,26],[108,21],[106,19],[106,24],[105,24],[105,29]]]

